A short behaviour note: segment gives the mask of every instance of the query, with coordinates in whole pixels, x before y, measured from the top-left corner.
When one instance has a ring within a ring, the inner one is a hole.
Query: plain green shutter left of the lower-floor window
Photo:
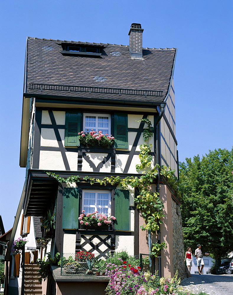
[[[79,227],[79,188],[63,189],[62,228],[76,229]]]

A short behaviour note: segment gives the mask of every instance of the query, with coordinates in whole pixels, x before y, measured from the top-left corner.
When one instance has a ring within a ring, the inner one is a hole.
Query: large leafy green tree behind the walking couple
[[[233,250],[233,148],[209,151],[180,163],[185,247],[210,252],[216,270]]]

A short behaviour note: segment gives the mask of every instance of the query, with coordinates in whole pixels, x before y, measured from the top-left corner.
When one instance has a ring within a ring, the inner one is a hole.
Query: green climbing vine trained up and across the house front
[[[142,171],[142,175],[140,177],[128,176],[124,179],[121,179],[119,176],[110,176],[105,177],[103,179],[93,178],[89,176],[85,176],[80,178],[80,176],[70,176],[68,178],[62,178],[56,175],[55,173],[46,172],[48,176],[52,176],[55,178],[59,183],[71,183],[71,182],[89,182],[90,184],[99,183],[100,185],[120,185],[122,189],[128,189],[129,187],[138,188],[139,195],[135,196],[135,203],[137,209],[140,210],[142,216],[146,224],[141,226],[142,230],[151,230],[151,232],[156,232],[159,230],[159,225],[157,224],[157,220],[159,219],[159,223],[161,224],[162,221],[160,220],[163,214],[164,205],[159,198],[158,192],[151,192],[150,186],[151,183],[156,179],[158,175],[157,168],[161,168],[160,174],[163,175],[169,183],[171,183],[174,189],[177,188],[177,178],[174,176],[175,170],[170,170],[166,166],[160,167],[158,164],[155,164],[153,168],[152,165],[152,155],[151,155],[151,147],[152,145],[149,144],[149,138],[153,136],[153,127],[151,121],[149,119],[142,119],[142,122],[145,122],[148,126],[148,129],[144,129],[143,137],[144,143],[140,145],[140,153],[139,159],[141,164],[136,165],[136,170],[145,170]],[[165,244],[153,244],[152,249],[156,252],[161,250],[161,247],[164,248]]]

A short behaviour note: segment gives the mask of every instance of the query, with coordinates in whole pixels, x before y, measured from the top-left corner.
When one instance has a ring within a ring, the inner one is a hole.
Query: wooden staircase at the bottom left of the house
[[[38,281],[39,267],[36,263],[25,264],[24,294],[42,295],[42,286]]]

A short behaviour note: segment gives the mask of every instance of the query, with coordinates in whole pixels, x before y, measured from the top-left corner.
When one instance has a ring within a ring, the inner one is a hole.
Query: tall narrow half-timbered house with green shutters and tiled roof
[[[43,217],[56,209],[51,253],[149,253],[134,189],[59,184],[46,174],[139,176],[136,164],[147,128],[140,120],[148,118],[154,127],[149,140],[153,163],[175,169],[178,176],[173,84],[177,49],[143,48],[142,33],[140,24],[132,24],[129,45],[27,37],[20,150],[20,166],[26,167],[23,214]],[[81,145],[78,132],[92,129],[113,135],[114,145]],[[156,180],[151,183],[152,191],[156,185]],[[167,242],[161,274],[173,275],[183,269],[180,201],[164,178],[158,185],[165,212],[160,240]],[[110,213],[116,222],[87,230],[78,220],[82,210]],[[152,240],[157,242],[155,236]]]

